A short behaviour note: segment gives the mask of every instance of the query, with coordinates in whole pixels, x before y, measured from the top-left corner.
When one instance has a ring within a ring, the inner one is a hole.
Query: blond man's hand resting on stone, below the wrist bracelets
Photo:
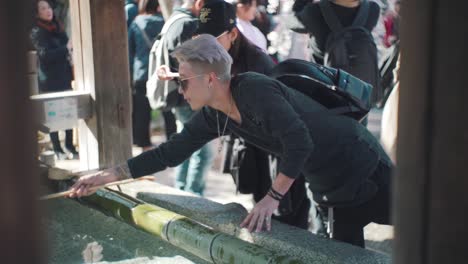
[[[269,195],[263,197],[252,209],[249,215],[242,221],[241,227],[246,227],[249,232],[255,229],[255,232],[260,232],[263,229],[263,224],[267,231],[271,230],[271,215],[278,208],[279,201],[271,198]]]

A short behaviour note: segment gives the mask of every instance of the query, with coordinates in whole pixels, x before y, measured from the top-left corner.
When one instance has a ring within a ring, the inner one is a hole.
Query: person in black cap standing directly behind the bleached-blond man
[[[262,49],[251,43],[236,26],[236,7],[225,1],[212,2],[203,6],[200,11],[200,21],[197,33],[210,34],[229,52],[233,59],[231,74],[233,76],[244,72],[257,72],[268,75],[275,63]],[[235,137],[231,136],[225,145],[225,151],[233,150]],[[239,140],[239,139],[237,139]],[[255,202],[259,202],[271,186],[271,175],[276,168],[274,156],[249,143],[240,143],[245,147],[240,164],[230,164],[232,157],[225,153],[227,167],[236,168],[230,172],[236,179],[237,188],[241,193],[252,193]],[[242,148],[243,148],[242,147]],[[237,155],[234,155],[237,156]],[[273,168],[270,168],[273,167]],[[304,178],[295,181],[288,198],[280,205],[279,216],[275,218],[283,223],[303,229],[308,228],[310,201],[306,195]]]

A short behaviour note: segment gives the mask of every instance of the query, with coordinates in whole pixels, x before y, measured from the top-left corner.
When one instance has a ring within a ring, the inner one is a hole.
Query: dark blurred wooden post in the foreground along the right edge
[[[468,261],[467,8],[402,1],[394,263]]]

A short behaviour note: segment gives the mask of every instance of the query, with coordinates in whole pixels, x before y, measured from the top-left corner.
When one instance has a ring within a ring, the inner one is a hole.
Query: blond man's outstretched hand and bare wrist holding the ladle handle
[[[88,196],[96,192],[96,190],[91,190],[92,187],[125,179],[126,177],[128,177],[129,174],[126,168],[124,167],[126,166],[117,166],[114,168],[80,177],[70,188],[70,191],[72,191],[72,193],[69,195],[69,197],[75,198],[81,196]]]

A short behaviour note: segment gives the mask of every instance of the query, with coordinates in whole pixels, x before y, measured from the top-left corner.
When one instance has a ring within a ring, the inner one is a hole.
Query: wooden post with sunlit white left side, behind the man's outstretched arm
[[[80,121],[81,169],[109,167],[131,157],[131,91],[124,2],[70,0],[75,82],[94,99]]]

